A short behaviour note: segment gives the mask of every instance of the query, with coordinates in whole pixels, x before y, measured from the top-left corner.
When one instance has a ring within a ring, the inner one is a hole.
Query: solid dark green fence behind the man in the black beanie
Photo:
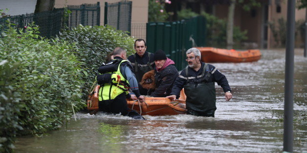
[[[206,20],[201,16],[174,22],[149,22],[146,28],[147,50],[154,53],[162,49],[175,61],[178,70],[187,65],[186,50],[205,46]]]

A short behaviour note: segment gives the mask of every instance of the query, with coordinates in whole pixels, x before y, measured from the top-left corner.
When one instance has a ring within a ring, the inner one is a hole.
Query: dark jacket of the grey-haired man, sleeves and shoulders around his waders
[[[197,76],[201,75],[204,65],[205,65],[205,63],[201,62],[201,67],[198,71],[195,71],[192,68],[188,67],[189,76],[186,75],[185,69],[182,70],[179,77],[176,79],[176,81],[174,83],[172,93],[170,95],[176,95],[176,98],[179,98],[180,91],[182,90],[183,86],[187,83],[187,77],[191,77],[191,76],[197,77]],[[209,71],[213,72],[213,73],[210,76],[209,81],[207,81],[206,83],[217,82],[218,85],[220,85],[223,88],[224,92],[227,92],[227,91],[231,92],[231,89],[229,87],[226,76],[221,74],[219,72],[219,70],[216,67],[214,67],[213,65],[211,65],[211,64],[208,64],[208,65],[209,65]],[[190,82],[193,83],[194,80],[190,79]],[[195,80],[195,83],[199,83],[199,82],[197,82],[197,80]]]

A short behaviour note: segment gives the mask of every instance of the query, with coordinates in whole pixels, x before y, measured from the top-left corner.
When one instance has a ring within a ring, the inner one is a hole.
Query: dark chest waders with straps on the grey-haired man
[[[188,68],[185,70],[186,76],[188,77]],[[205,72],[207,73],[205,74]],[[217,109],[215,85],[214,82],[205,83],[208,82],[210,75],[211,72],[206,63],[203,67],[200,79],[196,78],[196,84],[191,83],[189,78],[187,79],[187,84],[184,85],[184,93],[187,96],[187,114],[214,117],[214,112]]]

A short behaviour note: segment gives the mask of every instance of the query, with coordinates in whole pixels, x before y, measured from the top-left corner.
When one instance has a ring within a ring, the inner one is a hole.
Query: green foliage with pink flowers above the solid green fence
[[[169,17],[163,2],[164,0],[149,0],[148,4],[148,21],[149,22],[165,22]]]

